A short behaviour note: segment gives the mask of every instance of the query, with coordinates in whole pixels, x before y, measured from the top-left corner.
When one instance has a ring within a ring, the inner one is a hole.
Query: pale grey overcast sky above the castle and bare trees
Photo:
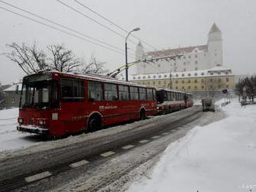
[[[77,12],[67,9],[55,0],[5,0],[12,5],[27,9],[68,26],[80,33],[100,39],[112,46],[123,50],[124,39],[112,33],[97,23],[86,19]],[[83,9],[74,0],[61,0],[75,9],[80,10],[108,25],[92,12]],[[236,74],[252,74],[256,72],[256,1],[255,0],[79,0],[97,12],[105,15],[112,22],[116,22],[124,29],[131,30],[140,27],[140,31],[133,33],[140,39],[159,50],[176,48],[179,46],[195,46],[206,44],[207,34],[213,22],[223,33],[223,64],[231,67]],[[0,1],[0,7],[17,11]],[[26,14],[27,15],[27,14]],[[6,43],[33,43],[36,41],[40,48],[47,45],[64,43],[78,57],[88,57],[92,53],[100,61],[106,62],[110,70],[123,65],[124,54],[112,52],[95,46],[85,40],[61,33],[47,26],[21,18],[0,9],[0,53],[6,53]],[[109,28],[118,33],[126,34],[119,29]],[[133,42],[137,39],[130,37]],[[136,45],[128,42],[133,54]],[[148,50],[151,47],[144,44]],[[123,51],[124,53],[124,51]],[[134,60],[129,57],[129,61]],[[0,55],[0,81],[11,83],[22,77],[22,71],[5,56]]]

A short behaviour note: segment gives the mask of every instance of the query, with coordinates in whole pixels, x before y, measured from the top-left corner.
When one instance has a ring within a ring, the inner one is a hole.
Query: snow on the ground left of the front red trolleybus
[[[16,131],[19,108],[0,110],[0,151],[31,146],[39,140],[35,135]]]

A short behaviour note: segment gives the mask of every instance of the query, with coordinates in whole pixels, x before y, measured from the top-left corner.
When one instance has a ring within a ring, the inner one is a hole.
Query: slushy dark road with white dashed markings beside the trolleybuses
[[[170,142],[195,125],[205,125],[222,116],[202,113],[194,107],[144,122],[2,153],[0,188],[3,191],[20,187],[26,191],[122,189],[134,169],[145,163],[150,165],[149,160],[157,158]],[[49,178],[29,182],[43,176]]]

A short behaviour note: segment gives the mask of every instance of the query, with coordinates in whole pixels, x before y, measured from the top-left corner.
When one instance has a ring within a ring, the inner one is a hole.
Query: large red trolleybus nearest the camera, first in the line
[[[94,74],[42,72],[23,78],[21,132],[61,136],[156,115],[154,87]]]

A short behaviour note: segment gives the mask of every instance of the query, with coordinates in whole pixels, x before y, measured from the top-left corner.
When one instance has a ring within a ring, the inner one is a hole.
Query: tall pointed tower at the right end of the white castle
[[[213,23],[208,33],[208,51],[209,51],[209,67],[223,65],[223,46],[222,34],[218,26]]]

